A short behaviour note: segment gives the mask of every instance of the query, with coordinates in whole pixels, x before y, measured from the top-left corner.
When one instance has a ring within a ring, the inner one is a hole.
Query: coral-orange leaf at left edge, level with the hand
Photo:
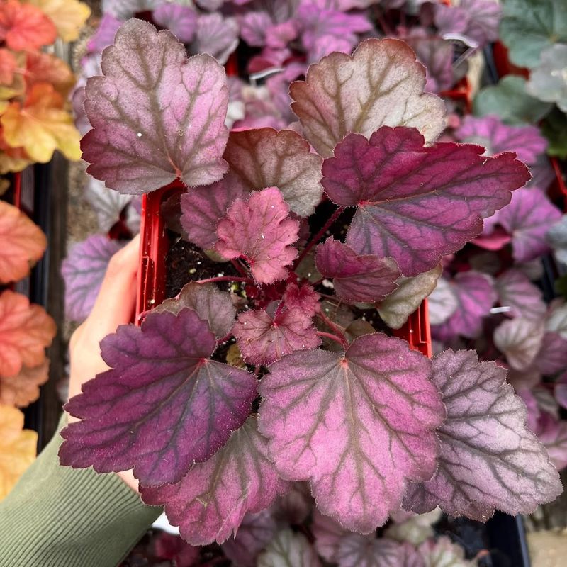
[[[0,376],[16,376],[22,366],[38,366],[55,337],[55,322],[26,296],[6,290],[0,295]]]

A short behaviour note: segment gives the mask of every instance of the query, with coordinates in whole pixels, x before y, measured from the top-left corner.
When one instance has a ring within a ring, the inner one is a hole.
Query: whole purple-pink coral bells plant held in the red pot
[[[186,274],[103,339],[110,369],[67,404],[81,421],[62,464],[133,468],[192,545],[227,540],[295,481],[360,553],[347,532],[401,510],[487,520],[561,493],[505,369],[392,336],[442,258],[530,178],[513,153],[435,141],[444,103],[406,43],[312,64],[281,131],[229,132],[223,67],[148,23],[125,23],[101,68],[85,91],[89,173],[135,195],[183,181],[183,237],[218,274]]]

